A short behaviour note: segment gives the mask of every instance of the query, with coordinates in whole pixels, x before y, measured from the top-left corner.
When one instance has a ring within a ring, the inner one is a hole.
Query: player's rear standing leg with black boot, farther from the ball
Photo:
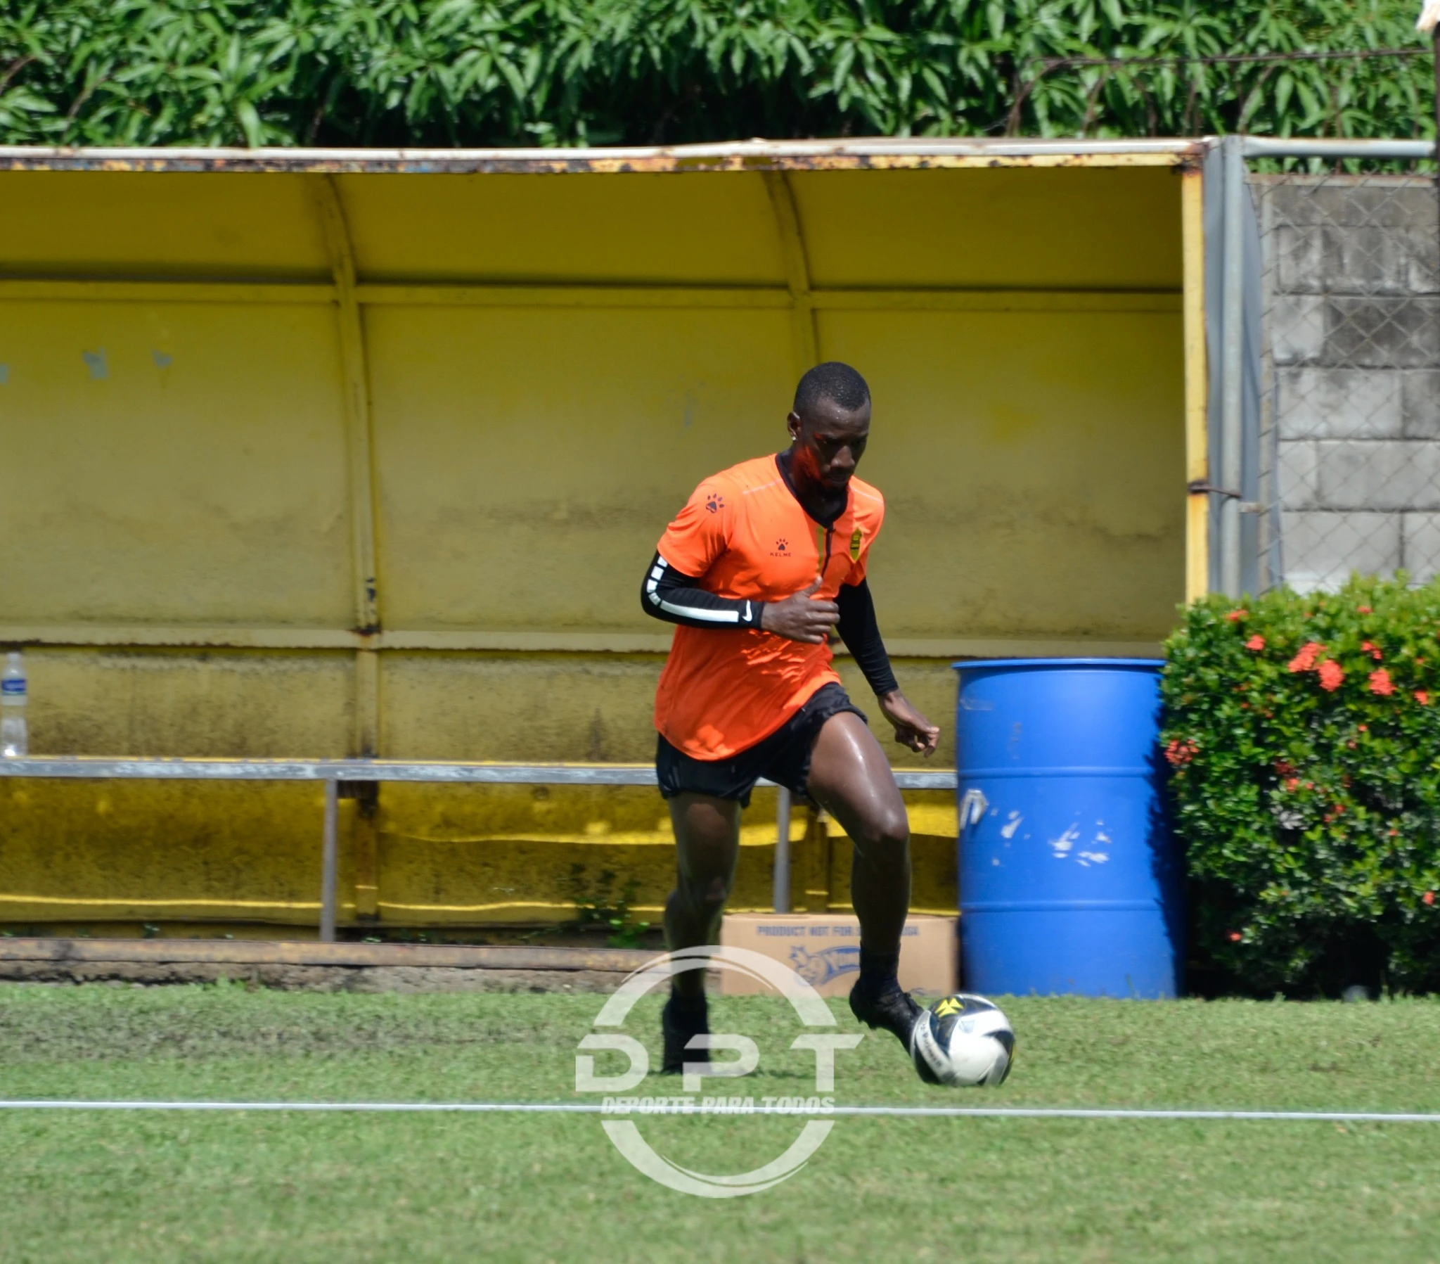
[[[720,914],[740,858],[740,804],[710,794],[677,794],[670,800],[670,820],[675,827],[675,889],[665,901],[665,947],[674,953],[719,940]],[[710,1029],[704,971],[674,977],[661,1026],[664,1069],[680,1071],[685,1042]]]

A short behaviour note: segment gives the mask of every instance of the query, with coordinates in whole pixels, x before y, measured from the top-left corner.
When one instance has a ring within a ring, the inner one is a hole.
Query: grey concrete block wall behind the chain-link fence
[[[1413,176],[1253,176],[1283,578],[1440,574],[1440,221]]]

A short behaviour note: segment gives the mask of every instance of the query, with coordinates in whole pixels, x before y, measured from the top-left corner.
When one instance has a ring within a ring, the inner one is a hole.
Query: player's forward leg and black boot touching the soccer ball
[[[910,911],[910,822],[880,742],[852,712],[825,721],[811,752],[811,797],[854,843],[851,899],[860,918],[855,1018],[909,1043],[920,1007],[900,989],[900,935]]]

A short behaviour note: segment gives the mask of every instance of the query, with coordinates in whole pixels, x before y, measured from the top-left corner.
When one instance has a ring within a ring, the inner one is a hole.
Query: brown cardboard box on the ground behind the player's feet
[[[900,986],[937,997],[959,986],[953,917],[912,917],[900,940]],[[724,947],[752,948],[795,970],[821,996],[850,996],[860,977],[860,918],[827,912],[736,912],[720,924]],[[721,996],[766,992],[736,970],[720,971]]]

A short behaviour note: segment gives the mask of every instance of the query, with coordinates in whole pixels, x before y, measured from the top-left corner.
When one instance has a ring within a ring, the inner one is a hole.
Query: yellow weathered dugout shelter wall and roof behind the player
[[[32,751],[645,760],[655,539],[785,444],[821,359],[874,393],[871,585],[936,762],[955,657],[1153,654],[1204,549],[1189,148],[873,148],[0,150],[0,644]],[[651,793],[380,794],[346,807],[351,920],[668,884]],[[318,798],[9,783],[0,922],[310,924]],[[916,807],[916,902],[953,909],[953,810]]]

